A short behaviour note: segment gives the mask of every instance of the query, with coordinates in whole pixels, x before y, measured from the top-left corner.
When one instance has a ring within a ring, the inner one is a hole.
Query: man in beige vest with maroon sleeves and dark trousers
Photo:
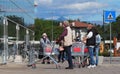
[[[66,69],[73,69],[73,62],[72,62],[72,56],[71,56],[72,31],[68,21],[63,22],[63,27],[64,27],[64,31],[60,35],[59,39],[63,40],[63,43],[64,43],[63,47],[67,55],[67,61],[69,66],[66,67]]]

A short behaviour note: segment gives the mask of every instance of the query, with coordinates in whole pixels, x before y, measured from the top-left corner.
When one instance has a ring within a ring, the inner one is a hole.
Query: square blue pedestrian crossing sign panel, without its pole
[[[104,11],[104,21],[114,22],[116,20],[115,11]]]

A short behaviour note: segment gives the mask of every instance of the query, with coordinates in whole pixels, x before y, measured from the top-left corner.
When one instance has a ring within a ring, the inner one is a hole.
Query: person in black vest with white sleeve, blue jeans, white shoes
[[[93,27],[92,25],[88,25],[87,27],[88,32],[86,37],[84,38],[86,40],[86,46],[89,50],[89,55],[90,55],[90,62],[89,62],[90,65],[88,66],[88,68],[96,67],[94,61],[94,53],[93,53],[95,47],[95,31],[93,30],[92,27]]]

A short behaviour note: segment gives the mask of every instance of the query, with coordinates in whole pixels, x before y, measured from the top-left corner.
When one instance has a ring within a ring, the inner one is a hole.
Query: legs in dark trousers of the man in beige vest
[[[73,62],[72,62],[72,56],[71,56],[71,46],[66,46],[65,47],[65,52],[68,57],[68,64],[69,66],[66,69],[73,69]]]

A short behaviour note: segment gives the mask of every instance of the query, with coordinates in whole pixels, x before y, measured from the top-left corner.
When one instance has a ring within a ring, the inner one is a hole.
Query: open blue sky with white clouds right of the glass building
[[[80,19],[103,21],[103,10],[120,15],[120,0],[35,0],[35,17],[43,19]]]

